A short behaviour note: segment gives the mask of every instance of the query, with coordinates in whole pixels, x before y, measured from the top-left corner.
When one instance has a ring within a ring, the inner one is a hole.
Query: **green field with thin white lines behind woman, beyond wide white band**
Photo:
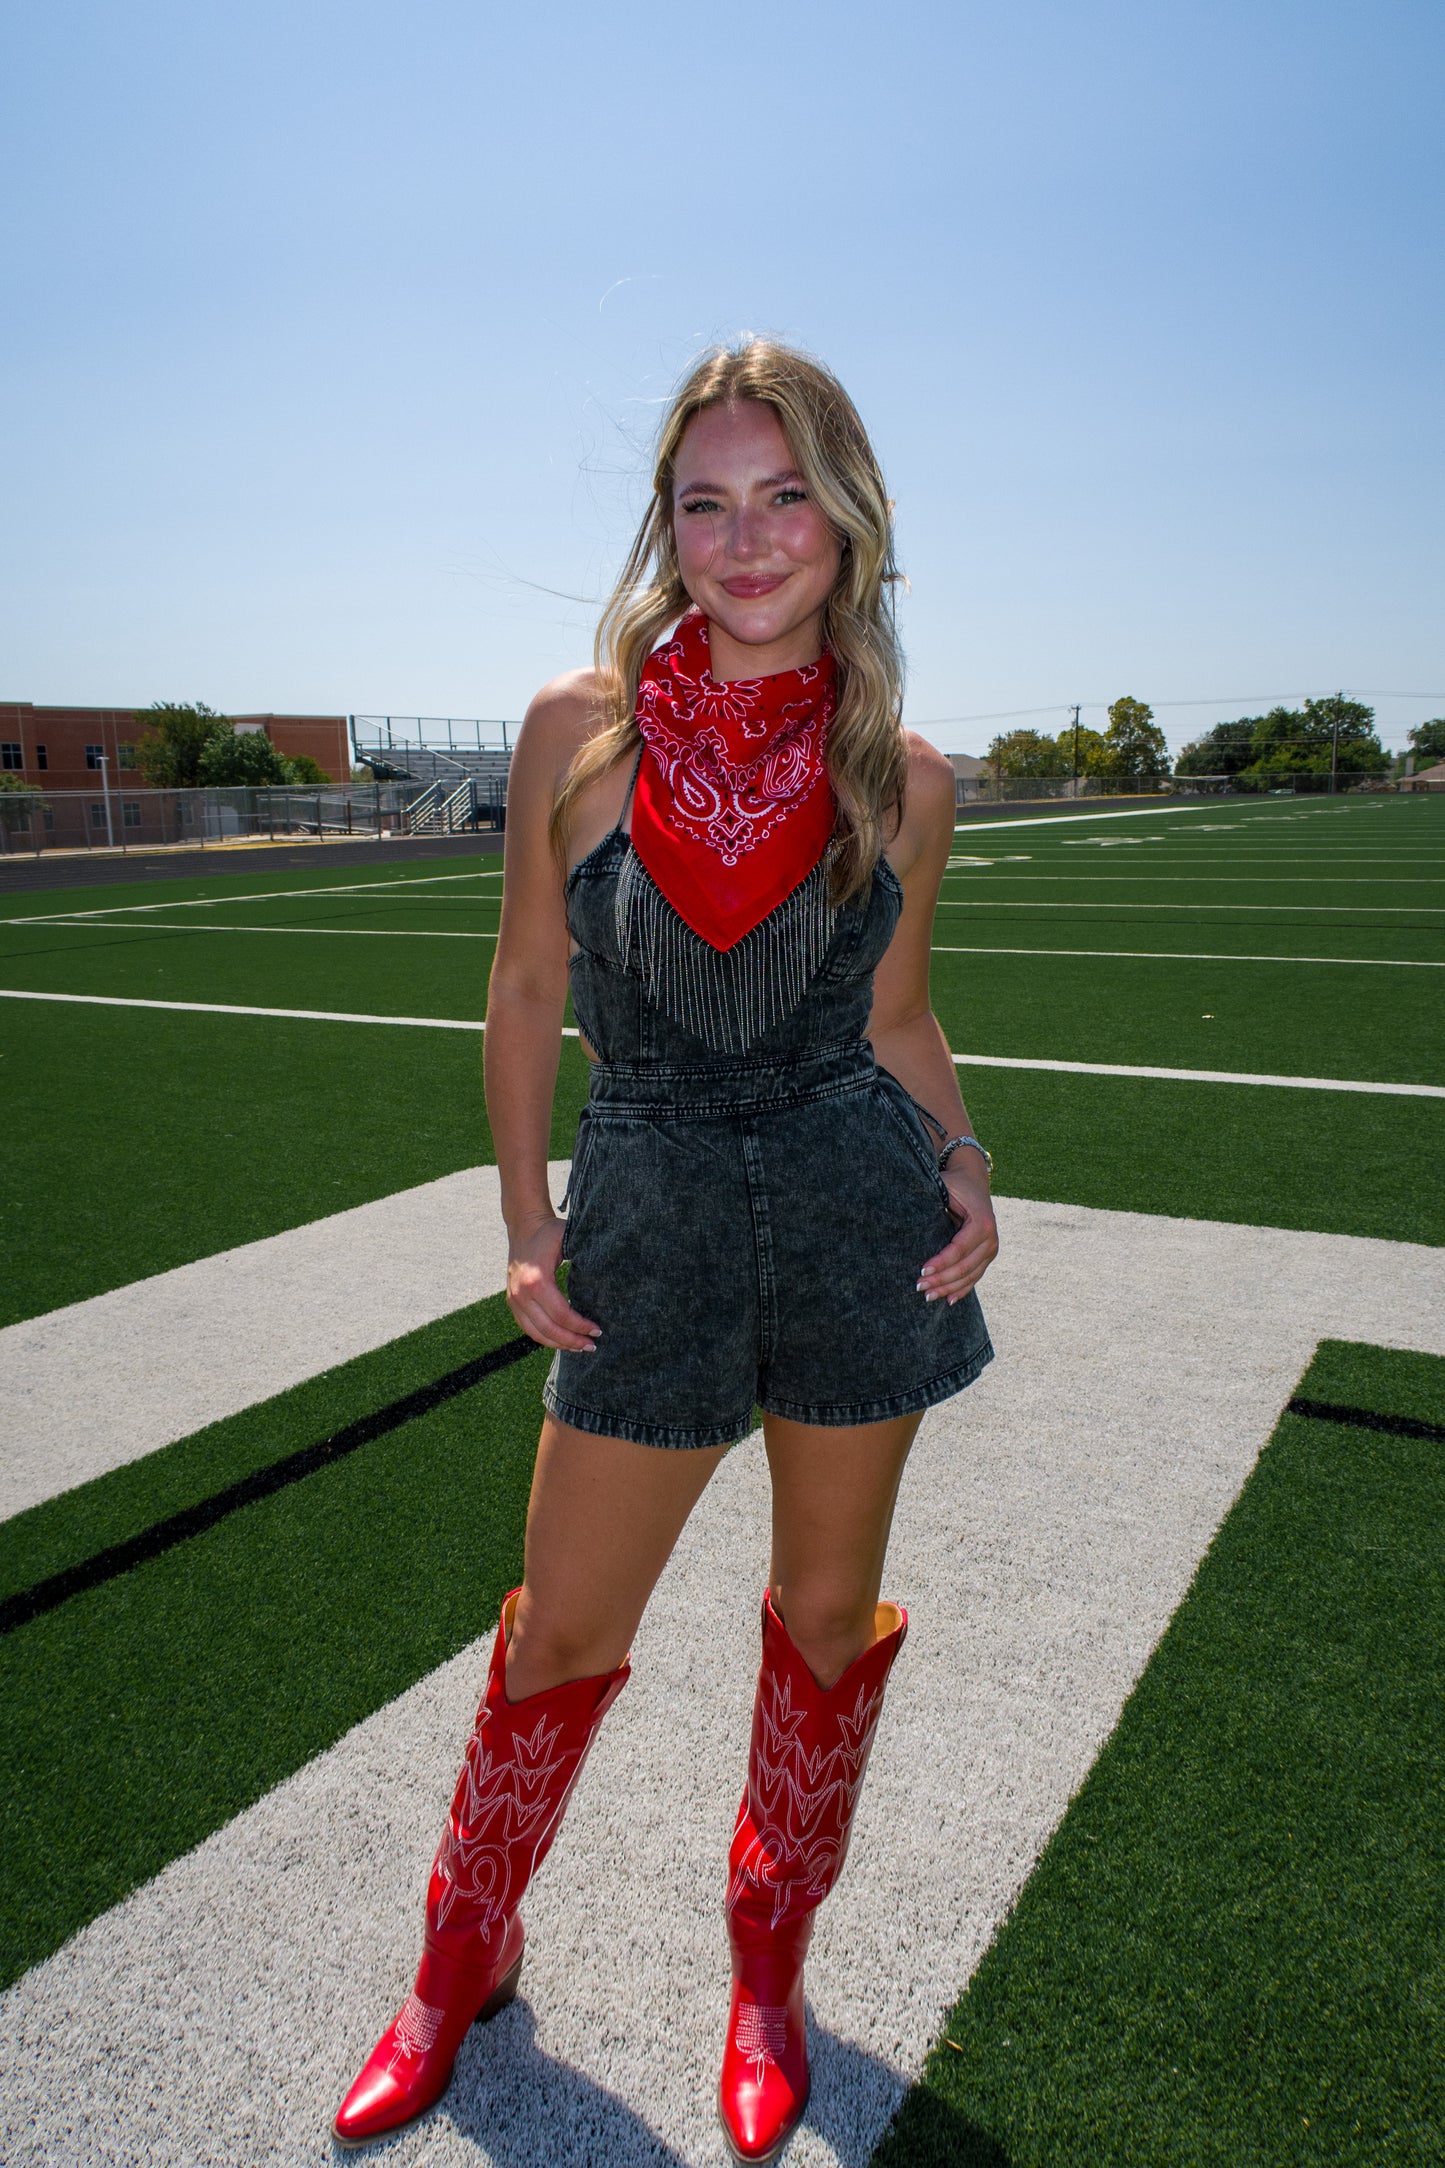
[[[496,859],[0,887],[0,989],[481,1021]],[[1070,954],[1057,954],[1066,950]],[[1259,960],[1267,958],[1267,960]],[[1445,1088],[1445,802],[960,828],[958,1054]],[[4,1320],[492,1156],[470,1032],[0,999]],[[1445,1242],[1428,1097],[962,1073],[1005,1195]],[[552,1149],[585,1064],[563,1051]],[[41,1149],[43,1145],[43,1149]]]

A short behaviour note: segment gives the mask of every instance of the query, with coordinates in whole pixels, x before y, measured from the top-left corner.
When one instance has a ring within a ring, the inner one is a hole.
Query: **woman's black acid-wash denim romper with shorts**
[[[975,1294],[916,1292],[953,1236],[936,1149],[862,1036],[903,891],[880,861],[838,911],[802,1004],[715,1054],[622,960],[613,828],[568,880],[572,1006],[596,1049],[572,1158],[568,1299],[602,1327],[546,1405],[643,1446],[726,1446],[754,1407],[795,1422],[908,1416],[992,1357]]]

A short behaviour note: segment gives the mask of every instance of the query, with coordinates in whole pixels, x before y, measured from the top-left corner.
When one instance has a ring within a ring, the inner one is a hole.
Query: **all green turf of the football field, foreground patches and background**
[[[494,856],[6,872],[0,1325],[492,1158]],[[1445,1244],[1445,802],[968,822],[934,945],[1003,1195]],[[559,1158],[585,1088],[568,1041]],[[513,1338],[474,1305],[0,1522],[0,1604]],[[487,1630],[544,1370],[0,1635],[4,1982]],[[1432,1357],[1298,1392],[1445,1424]],[[1441,1450],[1280,1414],[875,2168],[1445,2157]]]

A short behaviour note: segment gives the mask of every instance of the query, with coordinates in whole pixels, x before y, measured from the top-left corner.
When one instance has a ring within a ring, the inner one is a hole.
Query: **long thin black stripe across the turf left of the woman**
[[[433,1407],[442,1407],[446,1401],[455,1401],[457,1394],[470,1392],[472,1385],[479,1385],[483,1377],[492,1377],[494,1370],[505,1370],[509,1364],[522,1362],[524,1355],[535,1355],[537,1346],[539,1342],[524,1335],[505,1340],[490,1355],[464,1362],[459,1370],[448,1370],[446,1377],[438,1377],[429,1385],[418,1385],[416,1392],[407,1392],[401,1401],[392,1401],[388,1407],[349,1422],[342,1431],[334,1431],[331,1437],[323,1437],[314,1446],[301,1446],[297,1453],[271,1461],[269,1468],[258,1468],[253,1474],[240,1476],[238,1483],[227,1483],[214,1498],[201,1498],[182,1513],[169,1513],[149,1528],[141,1528],[139,1535],[128,1537],[123,1544],[108,1544],[106,1550],[97,1550],[91,1559],[80,1559],[76,1565],[67,1565],[58,1574],[48,1574],[45,1580],[37,1580],[28,1589],[17,1589],[0,1602],[0,1635],[15,1633],[17,1626],[43,1617],[45,1611],[54,1611],[71,1596],[97,1589],[106,1580],[128,1574],[134,1565],[145,1565],[147,1559],[158,1559],[162,1550],[173,1550],[193,1535],[214,1528],[217,1522],[238,1513],[240,1507],[256,1505],[258,1498],[273,1498],[275,1492],[286,1489],[290,1483],[301,1483],[303,1476],[314,1474],[318,1468],[329,1468],[331,1461],[344,1459],[357,1446],[368,1446],[373,1437],[386,1437],[388,1431],[399,1431],[403,1422],[414,1422],[418,1416],[431,1414]]]

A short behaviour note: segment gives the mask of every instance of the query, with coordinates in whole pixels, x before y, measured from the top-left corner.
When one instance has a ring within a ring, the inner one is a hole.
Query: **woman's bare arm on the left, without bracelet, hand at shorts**
[[[546,1182],[568,1004],[568,919],[548,822],[572,754],[594,728],[591,672],[546,685],[526,711],[507,783],[503,924],[487,991],[487,1119],[507,1221],[507,1303],[550,1348],[585,1351],[598,1327],[557,1286],[563,1221]]]

